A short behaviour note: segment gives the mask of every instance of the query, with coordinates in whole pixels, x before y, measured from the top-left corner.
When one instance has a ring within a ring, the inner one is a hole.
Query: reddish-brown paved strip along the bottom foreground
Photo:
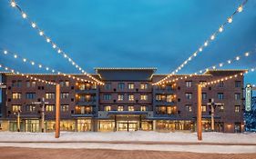
[[[200,153],[184,153],[184,152],[162,152],[162,151],[143,151],[143,150],[92,150],[92,149],[40,149],[40,148],[15,148],[15,147],[0,147],[0,158],[12,158],[12,159],[83,159],[87,156],[88,159],[166,159],[166,158],[188,158],[188,159],[254,159],[256,154],[200,154]]]

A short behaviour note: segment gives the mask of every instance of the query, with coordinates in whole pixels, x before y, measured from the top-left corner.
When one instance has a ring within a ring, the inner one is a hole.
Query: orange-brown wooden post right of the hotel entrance
[[[198,114],[197,114],[197,133],[198,133],[198,140],[202,140],[202,130],[201,130],[201,87],[202,85],[198,85]]]

